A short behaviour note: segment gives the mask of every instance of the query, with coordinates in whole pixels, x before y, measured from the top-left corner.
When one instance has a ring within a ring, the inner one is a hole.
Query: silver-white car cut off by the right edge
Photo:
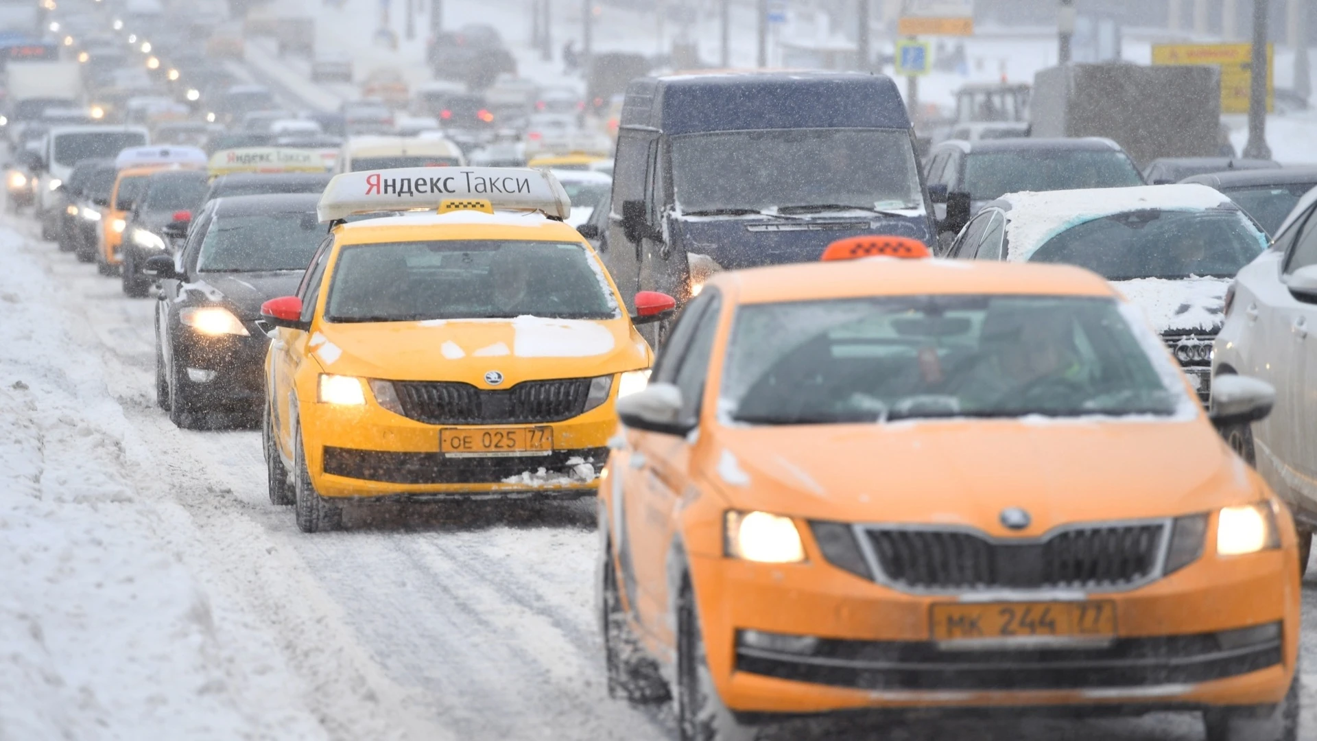
[[[1167,187],[1167,186],[1162,186]],[[1213,376],[1250,374],[1276,388],[1272,415],[1222,430],[1289,502],[1300,567],[1317,530],[1317,189],[1300,199],[1271,248],[1239,270],[1226,295]]]

